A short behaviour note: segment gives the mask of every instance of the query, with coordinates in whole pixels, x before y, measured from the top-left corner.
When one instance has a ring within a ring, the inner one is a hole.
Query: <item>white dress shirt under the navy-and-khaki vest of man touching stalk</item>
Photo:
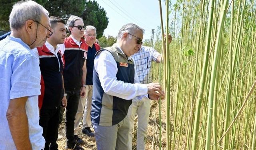
[[[130,60],[131,58],[128,57],[128,59]],[[136,96],[138,96],[137,98],[140,100],[142,97],[148,97],[148,86],[146,84],[140,84],[136,74],[135,66],[136,65],[134,65],[134,84],[125,83],[123,81],[117,80],[116,78],[118,68],[116,61],[110,52],[103,50],[94,59],[94,67],[98,73],[99,80],[104,92],[106,92],[106,94],[125,100],[131,100]]]

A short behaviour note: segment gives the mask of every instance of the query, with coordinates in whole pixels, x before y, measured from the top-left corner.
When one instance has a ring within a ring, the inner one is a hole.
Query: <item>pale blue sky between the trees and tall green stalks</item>
[[[151,39],[152,29],[161,25],[158,0],[96,0],[104,8],[108,17],[108,27],[105,36],[116,37],[124,24],[134,23],[144,28],[143,40]],[[166,24],[166,7],[162,0],[163,22]],[[154,34],[154,39],[156,33]]]

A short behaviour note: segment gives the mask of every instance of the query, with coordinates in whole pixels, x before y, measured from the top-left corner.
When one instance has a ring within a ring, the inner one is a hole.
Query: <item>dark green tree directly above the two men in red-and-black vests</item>
[[[68,20],[70,15],[81,16],[86,0],[48,0],[44,6],[50,12],[49,16],[56,16]]]

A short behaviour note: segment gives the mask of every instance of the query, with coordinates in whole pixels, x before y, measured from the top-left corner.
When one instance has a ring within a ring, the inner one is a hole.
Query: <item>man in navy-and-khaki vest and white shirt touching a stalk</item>
[[[128,150],[130,123],[126,119],[132,99],[158,100],[158,83],[140,84],[131,56],[142,45],[144,29],[126,24],[117,42],[98,51],[94,60],[91,118],[98,150]]]

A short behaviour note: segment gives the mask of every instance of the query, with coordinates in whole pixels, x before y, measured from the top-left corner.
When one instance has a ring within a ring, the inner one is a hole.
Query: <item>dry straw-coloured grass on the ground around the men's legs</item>
[[[162,147],[166,147],[166,137],[165,137],[165,102],[162,100]],[[65,116],[65,115],[64,115]],[[135,117],[134,122],[134,130],[132,132],[133,139],[132,139],[132,150],[136,150],[136,136],[137,136],[137,116]],[[80,127],[81,128],[81,127]],[[80,130],[78,136],[82,138],[85,142],[81,144],[85,150],[97,150],[96,147],[96,140],[94,137],[88,137],[82,134],[82,130]],[[59,150],[65,150],[66,146],[66,134],[65,134],[65,124],[64,121],[60,124],[59,128],[59,136],[58,141]],[[159,149],[159,108],[158,102],[152,101],[151,102],[151,112],[150,118],[148,122],[148,136],[146,138],[146,150],[158,150]]]

